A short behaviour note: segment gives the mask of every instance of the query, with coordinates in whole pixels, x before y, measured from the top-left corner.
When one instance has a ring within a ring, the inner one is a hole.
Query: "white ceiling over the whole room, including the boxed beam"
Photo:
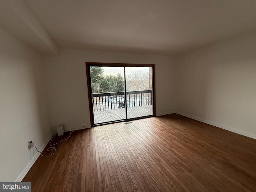
[[[18,2],[9,1],[9,9]],[[2,8],[0,28],[44,54],[58,47],[175,55],[256,30],[256,0],[23,2],[16,7],[30,17]]]

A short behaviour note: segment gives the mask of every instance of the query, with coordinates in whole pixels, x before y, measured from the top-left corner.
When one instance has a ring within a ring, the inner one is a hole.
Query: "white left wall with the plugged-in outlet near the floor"
[[[14,181],[52,133],[42,56],[0,30],[0,181]]]

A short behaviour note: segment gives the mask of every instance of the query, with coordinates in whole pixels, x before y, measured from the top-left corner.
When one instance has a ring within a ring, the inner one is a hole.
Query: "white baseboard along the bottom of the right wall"
[[[182,116],[185,116],[185,117],[188,117],[188,118],[191,118],[191,119],[194,119],[194,120],[197,120],[197,121],[200,121],[200,122],[203,122],[203,123],[206,123],[206,124],[209,124],[209,125],[212,125],[212,126],[215,126],[215,127],[218,127],[218,128],[221,128],[221,129],[224,129],[224,130],[228,130],[228,131],[231,131],[231,132],[234,132],[234,133],[246,136],[246,137],[256,139],[256,135],[253,135],[253,134],[250,134],[250,133],[246,133],[246,132],[243,132],[243,131],[240,131],[240,130],[236,130],[234,128],[230,128],[230,127],[227,127],[227,126],[224,126],[224,125],[220,125],[220,124],[216,124],[216,123],[206,121],[206,120],[203,120],[203,119],[200,119],[200,118],[196,118],[194,116],[190,116],[190,115],[187,115],[187,114],[184,114],[184,113],[180,113],[180,112],[175,112],[175,113],[179,114],[179,115],[182,115]]]

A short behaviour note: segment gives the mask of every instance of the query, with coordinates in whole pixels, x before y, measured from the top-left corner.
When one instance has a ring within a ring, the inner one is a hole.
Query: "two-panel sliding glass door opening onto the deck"
[[[154,65],[86,63],[92,125],[154,116]]]

